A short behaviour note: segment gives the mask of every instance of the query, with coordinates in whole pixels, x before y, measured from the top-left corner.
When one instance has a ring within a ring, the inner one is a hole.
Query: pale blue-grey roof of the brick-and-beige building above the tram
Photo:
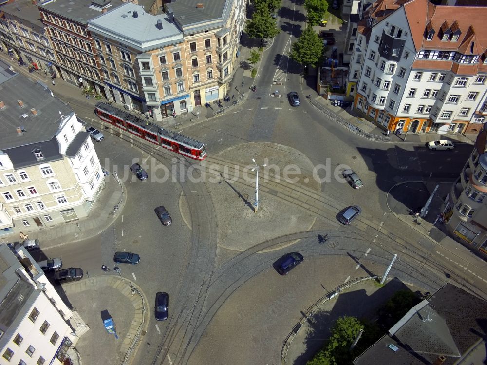
[[[166,14],[151,15],[133,3],[125,3],[99,15],[90,20],[88,26],[95,33],[115,34],[123,39],[124,44],[141,52],[183,40],[182,31],[169,21]]]

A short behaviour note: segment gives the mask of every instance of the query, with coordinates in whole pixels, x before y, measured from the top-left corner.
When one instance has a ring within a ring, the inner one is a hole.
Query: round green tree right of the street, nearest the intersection
[[[313,31],[313,27],[308,26],[301,33],[298,41],[293,43],[289,57],[304,66],[318,64],[321,55],[323,55],[323,41]]]

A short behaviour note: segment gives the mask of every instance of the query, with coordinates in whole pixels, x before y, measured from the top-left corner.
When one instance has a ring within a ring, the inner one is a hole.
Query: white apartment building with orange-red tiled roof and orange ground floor
[[[379,0],[358,23],[348,96],[391,131],[478,133],[486,115],[487,7]]]

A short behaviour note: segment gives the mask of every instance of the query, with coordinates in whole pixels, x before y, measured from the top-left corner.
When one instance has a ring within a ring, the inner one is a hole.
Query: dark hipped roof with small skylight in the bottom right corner
[[[416,306],[367,351],[355,365],[432,364],[445,356],[443,365],[460,359],[485,358],[487,302],[452,284],[446,284],[426,303]],[[398,347],[393,351],[389,344]],[[472,363],[473,364],[473,363]]]

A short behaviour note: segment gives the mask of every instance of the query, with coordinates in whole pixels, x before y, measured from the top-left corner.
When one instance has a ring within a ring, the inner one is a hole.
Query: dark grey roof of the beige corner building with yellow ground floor
[[[236,0],[177,0],[166,4],[166,7],[174,13],[176,21],[185,27],[211,20],[225,20],[225,13],[233,1]],[[203,8],[197,7],[197,4],[203,4]]]

